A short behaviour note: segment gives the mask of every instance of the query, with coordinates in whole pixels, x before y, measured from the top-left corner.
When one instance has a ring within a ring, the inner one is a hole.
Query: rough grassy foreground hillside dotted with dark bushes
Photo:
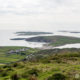
[[[80,80],[80,49],[41,50],[34,55],[2,65],[0,80]]]

